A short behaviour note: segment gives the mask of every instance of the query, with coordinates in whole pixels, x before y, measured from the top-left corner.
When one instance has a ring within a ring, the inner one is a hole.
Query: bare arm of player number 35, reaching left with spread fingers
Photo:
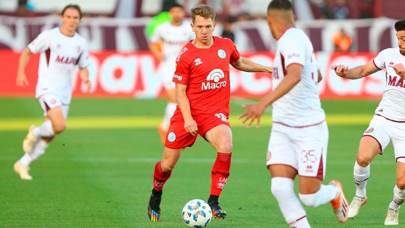
[[[300,64],[290,64],[287,67],[287,74],[281,80],[280,84],[271,91],[269,94],[265,95],[257,103],[242,105],[247,109],[245,113],[238,117],[238,119],[245,118],[242,124],[245,124],[250,120],[247,125],[248,128],[257,120],[256,128],[259,128],[260,118],[263,115],[266,107],[278,100],[280,97],[284,96],[286,93],[290,92],[301,81],[303,66]],[[319,75],[318,75],[319,77]]]

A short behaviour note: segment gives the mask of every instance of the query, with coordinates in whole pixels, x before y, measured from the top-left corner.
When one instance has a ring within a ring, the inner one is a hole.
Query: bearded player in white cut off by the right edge
[[[393,200],[388,205],[385,225],[397,225],[398,213],[405,199],[405,20],[395,22],[398,47],[380,51],[374,60],[362,66],[349,69],[348,66],[331,67],[342,78],[359,79],[382,69],[386,70],[385,90],[375,110],[369,127],[360,140],[353,176],[356,195],[349,206],[349,217],[353,218],[367,202],[366,185],[370,178],[370,163],[377,154],[382,154],[390,141],[394,146],[396,161],[396,185]],[[399,76],[399,77],[398,77]]]

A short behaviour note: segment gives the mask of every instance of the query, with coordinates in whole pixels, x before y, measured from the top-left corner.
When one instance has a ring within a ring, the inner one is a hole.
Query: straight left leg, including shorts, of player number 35
[[[273,123],[266,165],[271,177],[271,193],[276,198],[285,221],[292,227],[310,227],[307,214],[294,192],[298,166],[285,126]]]

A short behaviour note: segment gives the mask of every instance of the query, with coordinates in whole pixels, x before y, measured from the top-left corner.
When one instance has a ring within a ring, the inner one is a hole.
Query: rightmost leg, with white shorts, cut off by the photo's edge
[[[405,133],[405,127],[403,124],[390,123],[392,128],[392,144],[394,146],[394,154],[396,159],[396,183],[393,189],[393,199],[388,206],[385,225],[397,225],[399,208],[405,200],[405,141],[403,140],[403,134]]]

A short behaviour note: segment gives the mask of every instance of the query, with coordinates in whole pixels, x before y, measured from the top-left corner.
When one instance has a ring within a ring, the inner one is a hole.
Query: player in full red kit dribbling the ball
[[[184,149],[194,144],[197,135],[217,151],[207,202],[214,218],[226,216],[218,205],[218,197],[229,176],[233,148],[228,122],[229,64],[241,71],[271,73],[270,67],[241,57],[232,40],[212,35],[216,23],[215,11],[210,6],[193,8],[191,19],[196,38],[184,45],[176,59],[173,82],[176,83],[178,106],[170,121],[162,159],[154,169],[147,211],[151,221],[159,220],[163,185]]]

